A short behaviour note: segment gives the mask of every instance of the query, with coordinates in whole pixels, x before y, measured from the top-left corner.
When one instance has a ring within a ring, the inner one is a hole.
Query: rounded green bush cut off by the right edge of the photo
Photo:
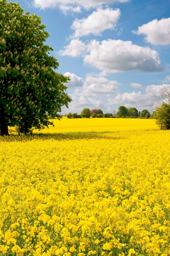
[[[156,124],[160,130],[170,130],[170,105],[163,103],[155,113]]]

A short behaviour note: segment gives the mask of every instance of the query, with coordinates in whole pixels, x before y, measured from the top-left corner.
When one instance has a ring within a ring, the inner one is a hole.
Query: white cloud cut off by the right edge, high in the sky
[[[132,31],[137,35],[145,35],[146,41],[151,44],[170,44],[170,18],[162,20],[152,20],[147,24],[138,27],[137,31]]]

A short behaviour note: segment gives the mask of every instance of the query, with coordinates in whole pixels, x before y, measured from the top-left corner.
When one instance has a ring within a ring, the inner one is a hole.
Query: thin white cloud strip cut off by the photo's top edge
[[[126,3],[130,0],[33,0],[34,6],[37,8],[55,8],[58,5],[80,5],[85,9],[97,7],[101,5]]]

